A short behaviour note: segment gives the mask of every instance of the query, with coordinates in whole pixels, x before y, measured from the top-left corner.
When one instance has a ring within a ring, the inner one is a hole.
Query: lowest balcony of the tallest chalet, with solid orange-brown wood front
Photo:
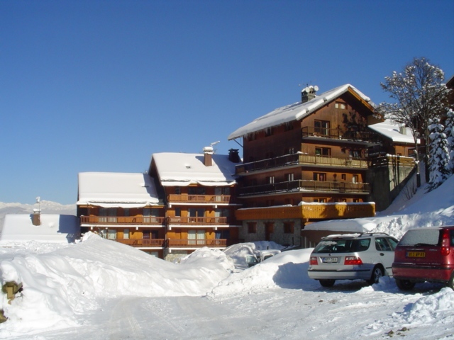
[[[302,203],[297,206],[248,208],[236,210],[238,220],[275,220],[303,218],[325,220],[375,216],[375,203]]]

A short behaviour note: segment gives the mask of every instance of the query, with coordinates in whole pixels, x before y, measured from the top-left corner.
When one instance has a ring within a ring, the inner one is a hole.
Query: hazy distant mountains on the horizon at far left
[[[33,209],[41,210],[43,214],[57,215],[76,215],[76,204],[62,205],[60,203],[51,202],[50,200],[42,200],[39,205],[23,204],[23,203],[3,203],[0,202],[0,230],[3,229],[3,222],[7,214],[33,214]]]

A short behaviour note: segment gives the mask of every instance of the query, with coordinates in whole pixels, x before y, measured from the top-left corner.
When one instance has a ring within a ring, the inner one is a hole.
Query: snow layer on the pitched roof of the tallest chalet
[[[321,108],[321,106],[326,105],[327,102],[333,101],[333,99],[338,98],[338,96],[345,94],[345,92],[349,91],[349,89],[354,91],[364,101],[367,101],[373,106],[369,97],[358,91],[355,86],[345,84],[336,87],[336,89],[323,92],[323,94],[316,95],[314,99],[311,99],[306,103],[298,102],[292,105],[282,106],[282,108],[277,108],[275,111],[262,115],[262,117],[257,118],[249,124],[244,125],[242,128],[239,128],[235,132],[232,132],[231,135],[228,136],[228,140],[234,140],[235,138],[242,137],[250,132],[264,130],[265,128],[281,125],[293,120],[300,120],[306,115],[309,115],[310,113],[313,113],[317,109]]]

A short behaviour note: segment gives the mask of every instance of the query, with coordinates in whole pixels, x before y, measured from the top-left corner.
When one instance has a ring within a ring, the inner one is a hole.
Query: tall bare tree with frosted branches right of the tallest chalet
[[[385,118],[406,125],[413,134],[415,157],[417,164],[417,186],[421,186],[419,177],[420,151],[418,139],[422,137],[425,143],[423,152],[426,163],[426,181],[429,181],[429,120],[440,118],[448,107],[449,89],[443,84],[443,71],[429,63],[424,57],[414,58],[406,65],[404,72],[393,72],[391,77],[385,77],[382,89],[389,93],[394,103],[380,103],[377,111]]]

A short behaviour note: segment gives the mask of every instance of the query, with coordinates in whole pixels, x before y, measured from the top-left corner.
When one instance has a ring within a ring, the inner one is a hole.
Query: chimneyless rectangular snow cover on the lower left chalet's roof
[[[159,198],[155,183],[148,174],[81,172],[77,204],[142,208],[158,205]]]

